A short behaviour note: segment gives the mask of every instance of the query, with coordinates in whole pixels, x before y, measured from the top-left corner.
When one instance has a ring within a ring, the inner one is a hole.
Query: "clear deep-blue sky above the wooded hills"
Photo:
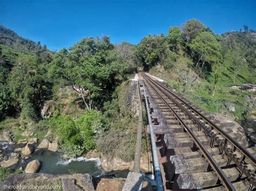
[[[138,44],[149,34],[167,34],[197,18],[221,34],[256,30],[256,0],[78,1],[0,0],[0,24],[49,49],[72,46],[84,37],[108,35],[112,43]]]

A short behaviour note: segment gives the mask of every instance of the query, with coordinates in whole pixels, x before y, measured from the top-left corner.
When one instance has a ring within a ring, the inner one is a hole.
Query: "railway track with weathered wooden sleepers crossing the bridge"
[[[165,189],[253,190],[255,147],[246,148],[228,123],[140,73],[157,136]]]

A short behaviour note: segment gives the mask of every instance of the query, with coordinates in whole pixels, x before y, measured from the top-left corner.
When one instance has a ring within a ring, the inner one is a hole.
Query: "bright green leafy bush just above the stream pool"
[[[50,119],[50,127],[59,136],[62,150],[76,155],[95,148],[96,135],[104,131],[104,124],[104,118],[96,110],[86,111],[75,120],[55,111]]]

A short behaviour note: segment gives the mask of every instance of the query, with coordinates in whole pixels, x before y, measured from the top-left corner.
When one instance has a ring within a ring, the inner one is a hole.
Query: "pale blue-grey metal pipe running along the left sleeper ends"
[[[161,179],[161,171],[160,171],[160,165],[159,165],[159,160],[158,160],[158,154],[157,154],[157,145],[156,145],[156,140],[154,139],[154,131],[153,131],[153,126],[151,122],[151,115],[150,115],[150,110],[149,110],[149,103],[147,102],[147,95],[146,95],[146,90],[144,83],[143,84],[143,91],[144,91],[144,97],[145,97],[145,104],[146,104],[146,110],[147,110],[147,119],[149,121],[149,126],[150,126],[150,139],[151,139],[151,146],[152,146],[152,153],[153,153],[153,162],[154,162],[154,172],[156,176],[156,182],[157,182],[157,190],[162,191],[164,190],[163,187],[163,182]]]

